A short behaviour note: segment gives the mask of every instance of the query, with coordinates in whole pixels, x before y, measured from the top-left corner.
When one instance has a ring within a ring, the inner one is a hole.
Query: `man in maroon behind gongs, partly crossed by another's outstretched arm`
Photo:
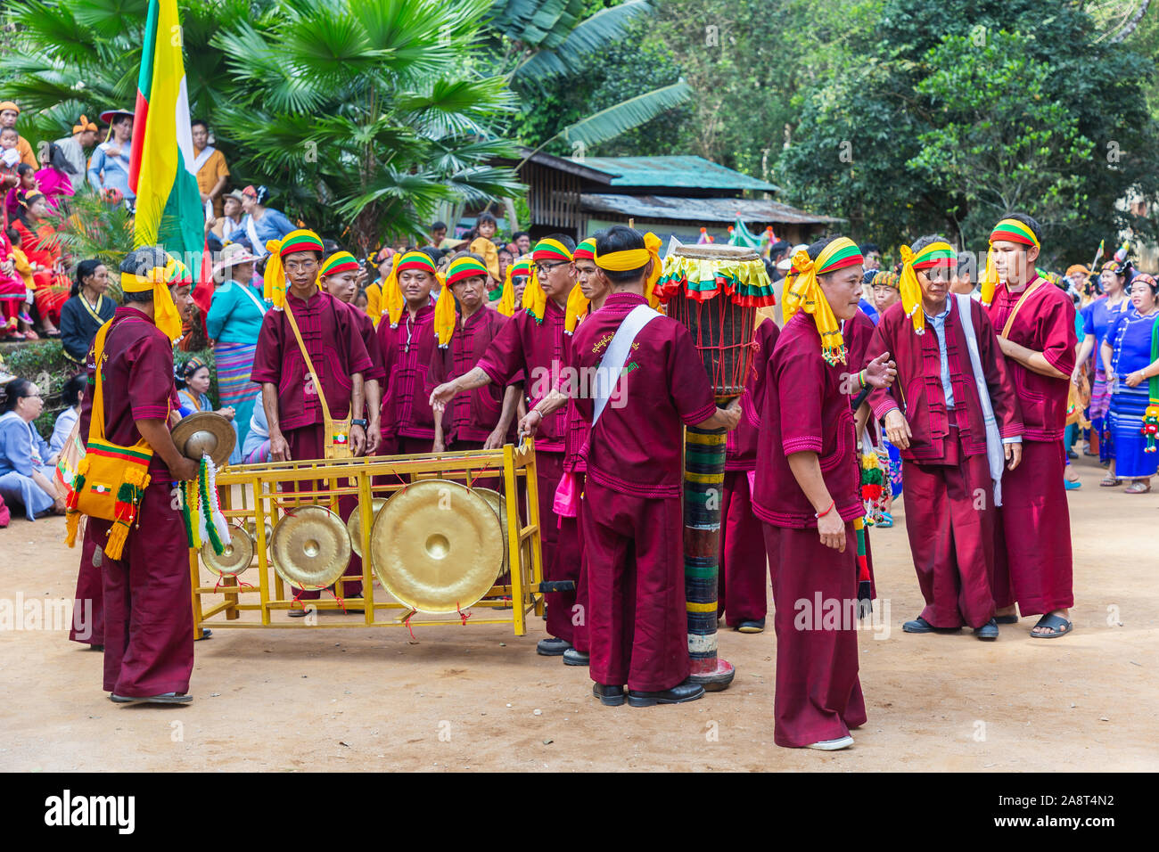
[[[483,357],[487,347],[508,322],[497,311],[487,308],[488,271],[483,258],[460,254],[446,270],[446,285],[459,303],[451,341],[435,352],[428,384],[431,387],[453,381],[466,374]],[[519,405],[522,376],[506,386],[483,385],[459,394],[442,415],[437,415],[435,452],[455,450],[494,450],[511,436],[511,423]]]

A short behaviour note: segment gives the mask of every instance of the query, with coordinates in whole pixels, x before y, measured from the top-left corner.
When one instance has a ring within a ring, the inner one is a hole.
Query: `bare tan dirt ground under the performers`
[[[1070,494],[1074,632],[997,642],[912,636],[904,512],[873,533],[888,618],[861,633],[868,723],[843,752],[772,742],[775,636],[720,634],[732,686],[687,705],[603,707],[586,669],[494,625],[217,629],[198,642],[191,705],[117,707],[101,655],[61,631],[0,633],[0,770],[955,770],[1159,769],[1159,493]],[[0,598],[71,598],[79,548],[60,518],[0,531]],[[885,610],[881,612],[884,614]],[[322,618],[357,618],[326,616]]]

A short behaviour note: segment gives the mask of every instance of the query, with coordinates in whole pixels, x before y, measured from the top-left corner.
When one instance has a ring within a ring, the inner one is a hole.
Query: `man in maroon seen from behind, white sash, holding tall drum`
[[[684,425],[735,429],[741,418],[737,402],[716,407],[688,330],[648,307],[658,245],[622,225],[597,236],[596,265],[611,293],[574,342],[576,407],[591,423],[581,500],[590,672],[592,693],[611,706],[624,704],[625,685],[634,707],[705,693],[688,683]]]

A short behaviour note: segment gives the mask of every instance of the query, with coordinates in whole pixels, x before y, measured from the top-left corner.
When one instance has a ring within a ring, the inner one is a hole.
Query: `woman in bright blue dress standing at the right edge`
[[[1131,308],[1118,314],[1102,342],[1102,362],[1110,384],[1110,429],[1115,475],[1131,479],[1128,494],[1146,494],[1159,467],[1159,452],[1146,452],[1143,414],[1151,381],[1159,376],[1159,284],[1150,275],[1131,279]]]

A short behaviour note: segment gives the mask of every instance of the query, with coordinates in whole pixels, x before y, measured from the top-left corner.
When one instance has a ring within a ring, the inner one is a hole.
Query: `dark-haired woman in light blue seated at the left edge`
[[[52,510],[65,514],[65,501],[52,485],[57,456],[36,431],[32,421],[44,410],[41,391],[28,379],[13,379],[5,388],[0,414],[0,496],[8,505],[22,505],[24,516]]]

